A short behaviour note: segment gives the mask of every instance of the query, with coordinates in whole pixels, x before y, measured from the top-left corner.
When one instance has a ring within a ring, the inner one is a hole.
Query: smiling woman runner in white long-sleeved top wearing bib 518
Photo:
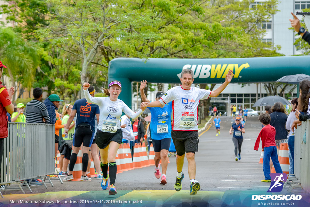
[[[83,83],[85,98],[87,102],[97,104],[100,109],[96,144],[100,149],[101,169],[103,173],[101,187],[103,190],[108,188],[108,178],[110,177],[109,195],[115,195],[117,193],[115,188],[117,172],[115,157],[123,138],[119,119],[122,112],[132,119],[138,118],[144,112],[146,103],[142,102],[140,110],[136,113],[133,112],[124,101],[117,98],[122,91],[122,85],[119,81],[112,81],[109,83],[108,89],[104,89],[104,93],[108,97],[91,97],[87,90],[89,87],[89,83]]]

